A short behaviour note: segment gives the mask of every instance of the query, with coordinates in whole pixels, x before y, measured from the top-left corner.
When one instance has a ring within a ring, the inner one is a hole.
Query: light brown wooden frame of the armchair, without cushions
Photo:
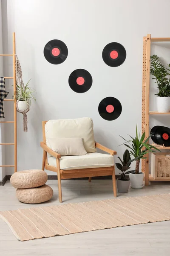
[[[43,158],[42,158],[42,170],[44,169],[57,172],[57,179],[58,179],[58,190],[59,190],[59,202],[62,203],[62,189],[61,189],[61,180],[64,179],[72,179],[72,178],[81,178],[81,177],[89,177],[89,182],[91,182],[91,177],[97,176],[108,176],[112,175],[113,181],[113,194],[116,197],[116,177],[115,177],[115,167],[102,167],[102,168],[87,168],[87,169],[75,169],[75,170],[61,170],[59,164],[59,158],[61,157],[60,154],[57,154],[51,148],[46,145],[45,139],[45,123],[47,121],[42,121],[42,134],[43,134],[43,142],[40,143],[40,146],[43,149]],[[117,154],[116,151],[106,148],[105,146],[95,142],[96,148],[99,148],[111,155]],[[47,153],[51,154],[52,156],[56,157],[57,167],[51,166],[48,164],[47,160]]]

